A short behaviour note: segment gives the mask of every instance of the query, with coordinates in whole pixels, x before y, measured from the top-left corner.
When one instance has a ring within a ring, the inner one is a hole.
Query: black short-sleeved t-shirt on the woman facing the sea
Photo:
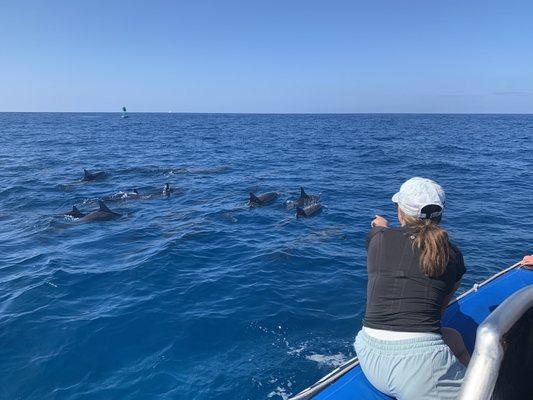
[[[466,271],[451,245],[446,272],[430,278],[420,270],[411,228],[375,227],[366,237],[368,287],[363,325],[401,332],[440,332],[444,297]]]

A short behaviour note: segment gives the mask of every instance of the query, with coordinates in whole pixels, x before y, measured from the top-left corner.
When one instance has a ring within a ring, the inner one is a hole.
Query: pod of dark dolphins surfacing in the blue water
[[[104,171],[91,172],[83,169],[83,173],[84,175],[82,181],[84,182],[96,181],[106,177],[106,173]],[[163,188],[162,195],[169,197],[172,192],[173,189],[170,187],[170,184],[166,183],[165,187]],[[133,189],[131,193],[128,193],[128,197],[140,198],[139,191],[137,189]],[[248,205],[250,207],[266,206],[273,203],[278,197],[279,193],[277,192],[265,192],[260,194],[250,193]],[[319,200],[319,195],[307,194],[304,188],[300,187],[300,197],[290,202],[296,208],[296,218],[309,218],[320,213],[323,209],[323,206],[319,203]],[[98,210],[84,214],[78,209],[78,207],[72,206],[72,210],[65,212],[64,215],[75,218],[79,222],[107,221],[120,218],[122,216],[122,214],[111,211],[102,200],[98,200],[98,207]]]

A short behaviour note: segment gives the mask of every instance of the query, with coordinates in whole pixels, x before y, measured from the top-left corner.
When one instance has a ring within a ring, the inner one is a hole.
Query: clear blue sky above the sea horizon
[[[533,112],[531,1],[1,1],[0,111]]]

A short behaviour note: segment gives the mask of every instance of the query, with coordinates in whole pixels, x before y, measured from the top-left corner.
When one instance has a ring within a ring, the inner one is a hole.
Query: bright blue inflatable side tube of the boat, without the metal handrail
[[[478,326],[502,302],[531,285],[533,285],[533,270],[521,268],[520,263],[517,263],[484,282],[475,284],[472,289],[450,302],[442,319],[442,326],[452,327],[461,332],[472,354]],[[529,329],[529,333],[526,334],[526,336],[529,335],[527,336],[529,339],[526,338],[526,341],[531,342],[533,337],[531,335],[531,312],[528,314],[529,320],[525,324],[527,324],[526,329]],[[531,361],[529,360],[529,363]],[[368,382],[356,357],[291,398],[291,400],[304,399],[381,400],[392,399],[392,397],[379,392]]]

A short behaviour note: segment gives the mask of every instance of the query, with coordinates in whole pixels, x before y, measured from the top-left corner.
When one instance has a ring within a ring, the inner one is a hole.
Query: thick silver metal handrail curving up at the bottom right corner
[[[509,296],[479,325],[458,400],[485,400],[492,396],[505,352],[503,336],[531,307],[533,285]]]

